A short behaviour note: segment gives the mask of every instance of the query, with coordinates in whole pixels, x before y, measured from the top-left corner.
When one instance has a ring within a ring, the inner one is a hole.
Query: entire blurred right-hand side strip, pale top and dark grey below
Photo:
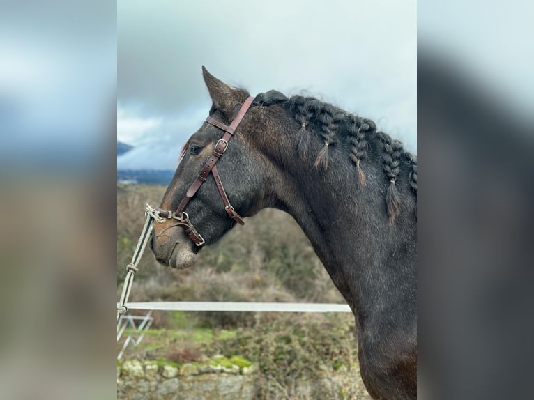
[[[533,12],[418,2],[422,398],[532,392]]]

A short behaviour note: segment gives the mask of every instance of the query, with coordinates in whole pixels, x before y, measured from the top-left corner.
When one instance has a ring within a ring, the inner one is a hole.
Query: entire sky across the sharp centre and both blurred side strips
[[[372,118],[416,153],[416,40],[533,118],[528,0],[420,1],[417,13],[404,0],[4,3],[0,164],[91,167],[114,157],[117,116],[116,139],[136,146],[117,167],[174,169],[210,107],[202,64],[253,95],[306,93]]]

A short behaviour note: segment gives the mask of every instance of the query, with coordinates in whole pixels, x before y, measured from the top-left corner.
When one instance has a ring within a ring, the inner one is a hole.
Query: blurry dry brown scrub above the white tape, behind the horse
[[[164,187],[117,187],[117,284],[144,223],[144,205],[158,205]],[[266,222],[268,221],[268,223]],[[158,264],[146,251],[131,301],[344,302],[292,217],[263,210],[199,252],[188,270]]]

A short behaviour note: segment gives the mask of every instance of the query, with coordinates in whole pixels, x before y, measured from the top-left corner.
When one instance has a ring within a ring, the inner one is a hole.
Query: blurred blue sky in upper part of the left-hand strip
[[[44,158],[79,161],[109,146],[116,102],[114,4],[3,2],[0,54],[0,163],[29,163],[37,156],[38,164]]]

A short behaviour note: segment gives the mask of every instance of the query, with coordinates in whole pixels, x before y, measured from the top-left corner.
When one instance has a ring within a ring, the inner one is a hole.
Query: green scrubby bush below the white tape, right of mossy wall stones
[[[239,328],[223,339],[216,336],[205,351],[243,355],[257,362],[263,380],[261,399],[277,398],[280,391],[298,398],[298,382],[331,376],[340,369],[356,378],[359,369],[351,314],[258,313],[252,328]]]

